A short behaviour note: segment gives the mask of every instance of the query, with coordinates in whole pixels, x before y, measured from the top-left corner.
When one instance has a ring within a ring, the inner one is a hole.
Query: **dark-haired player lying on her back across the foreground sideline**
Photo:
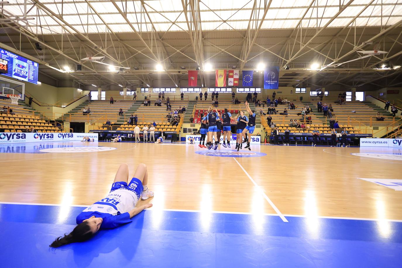
[[[147,166],[139,164],[131,181],[128,175],[127,164],[121,164],[109,195],[84,209],[76,218],[78,225],[74,230],[64,237],[57,237],[50,246],[58,248],[62,245],[88,240],[99,229],[113,229],[129,223],[131,218],[143,209],[152,207],[152,204],[135,207],[139,198],[146,200],[154,196],[147,186]]]

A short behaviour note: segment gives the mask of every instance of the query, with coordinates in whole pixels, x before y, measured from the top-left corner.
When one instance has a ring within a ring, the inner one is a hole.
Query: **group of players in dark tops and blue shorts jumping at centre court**
[[[249,117],[244,115],[244,111],[241,111],[236,117],[232,117],[232,114],[228,112],[228,109],[225,109],[221,116],[216,109],[213,110],[212,107],[209,107],[208,114],[201,120],[201,139],[198,146],[201,148],[208,148],[209,150],[212,148],[216,150],[220,144],[223,131],[224,137],[222,145],[226,148],[230,148],[230,138],[232,136],[230,121],[235,120],[237,122],[236,149],[239,151],[242,149],[242,143],[247,142],[247,145],[244,148],[251,150],[251,135],[247,135],[247,133],[254,133],[256,114],[254,113],[254,110],[250,109],[248,102],[245,104]],[[205,139],[207,139],[207,146],[205,146]],[[213,142],[214,140],[215,143]]]

